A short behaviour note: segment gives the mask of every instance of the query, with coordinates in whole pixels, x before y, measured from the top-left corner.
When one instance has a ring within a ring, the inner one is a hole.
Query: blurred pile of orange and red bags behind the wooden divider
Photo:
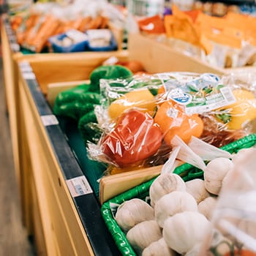
[[[254,65],[254,16],[233,10],[209,15],[198,8],[183,11],[176,5],[171,10],[164,18],[136,19],[140,33],[214,67]]]

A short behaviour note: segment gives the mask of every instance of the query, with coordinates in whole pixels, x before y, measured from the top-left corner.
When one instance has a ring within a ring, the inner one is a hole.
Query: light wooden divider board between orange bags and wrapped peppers
[[[255,72],[255,67],[218,68],[192,56],[187,56],[142,34],[129,34],[129,58],[139,59],[148,72],[212,72],[223,75],[230,72]]]

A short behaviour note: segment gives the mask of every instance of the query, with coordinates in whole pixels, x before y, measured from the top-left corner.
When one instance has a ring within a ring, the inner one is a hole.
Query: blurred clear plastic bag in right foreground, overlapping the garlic
[[[256,255],[256,148],[244,148],[233,157],[234,169],[225,178],[214,208],[212,232],[197,255]]]

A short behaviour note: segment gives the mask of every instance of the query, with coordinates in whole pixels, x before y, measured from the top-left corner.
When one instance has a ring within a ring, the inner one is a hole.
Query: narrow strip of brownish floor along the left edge
[[[3,76],[0,56],[0,256],[31,256],[34,249],[21,222]]]

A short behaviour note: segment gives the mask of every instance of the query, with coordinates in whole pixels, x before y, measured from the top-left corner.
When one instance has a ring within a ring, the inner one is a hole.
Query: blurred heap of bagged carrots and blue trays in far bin
[[[118,48],[120,39],[110,29],[122,30],[124,13],[107,1],[38,2],[12,15],[11,24],[18,44],[32,53],[107,51]],[[83,44],[78,34],[87,37]]]

